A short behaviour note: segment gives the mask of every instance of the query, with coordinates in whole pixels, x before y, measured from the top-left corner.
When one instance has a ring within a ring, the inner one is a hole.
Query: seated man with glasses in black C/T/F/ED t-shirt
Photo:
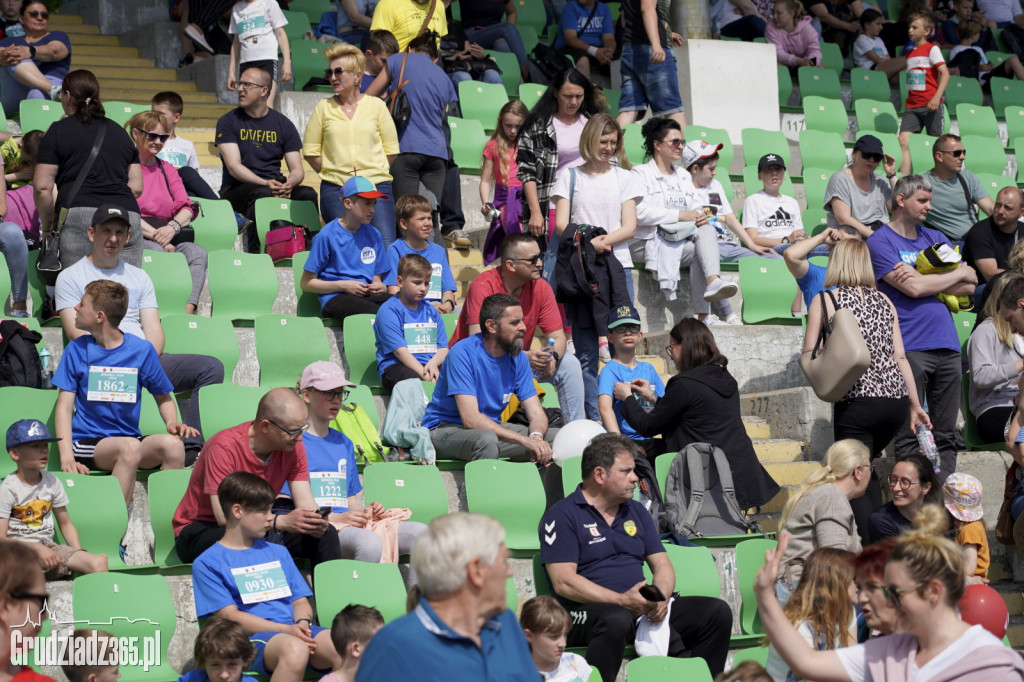
[[[239,79],[239,108],[217,121],[214,143],[223,162],[220,196],[249,220],[255,220],[256,200],[264,197],[316,205],[316,190],[300,184],[305,176],[302,137],[288,117],[267,104],[270,84],[270,75],[262,69],[246,69]],[[288,165],[287,177],[281,172],[282,160]],[[255,223],[246,229],[245,247],[259,253]]]

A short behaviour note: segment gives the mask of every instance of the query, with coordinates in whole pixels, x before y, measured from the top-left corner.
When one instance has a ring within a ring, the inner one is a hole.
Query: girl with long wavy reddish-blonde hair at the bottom
[[[804,577],[782,610],[808,644],[818,651],[857,643],[857,614],[853,560],[856,554],[822,547],[811,552],[804,564]],[[765,668],[775,682],[796,682],[795,676],[768,645]]]

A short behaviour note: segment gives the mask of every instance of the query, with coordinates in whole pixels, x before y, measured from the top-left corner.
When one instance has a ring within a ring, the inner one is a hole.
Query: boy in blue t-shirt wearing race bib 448
[[[396,269],[398,293],[380,307],[374,318],[377,373],[386,391],[404,379],[437,381],[447,355],[444,321],[424,300],[433,266],[414,253],[402,256]]]

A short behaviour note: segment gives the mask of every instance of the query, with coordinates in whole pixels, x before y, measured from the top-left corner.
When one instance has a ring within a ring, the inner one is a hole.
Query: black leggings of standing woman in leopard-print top
[[[833,406],[833,437],[854,438],[867,445],[873,460],[902,428],[910,409],[908,398],[859,397]],[[870,544],[867,523],[871,512],[882,506],[882,483],[871,471],[867,491],[850,501],[862,545]]]

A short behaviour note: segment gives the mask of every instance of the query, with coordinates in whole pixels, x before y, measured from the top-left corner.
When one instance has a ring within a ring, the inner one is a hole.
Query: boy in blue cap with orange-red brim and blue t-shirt
[[[388,273],[384,240],[370,224],[379,198],[374,183],[350,177],[341,189],[345,215],[313,238],[299,287],[316,294],[321,316],[338,322],[348,315],[377,312],[388,299],[382,275]]]

